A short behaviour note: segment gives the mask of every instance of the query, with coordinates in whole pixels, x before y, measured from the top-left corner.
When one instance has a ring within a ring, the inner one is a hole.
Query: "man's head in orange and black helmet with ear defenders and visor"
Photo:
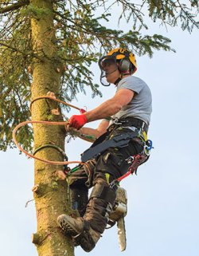
[[[101,83],[105,86],[110,84],[117,85],[124,76],[135,73],[137,69],[135,55],[123,48],[111,50],[100,59],[99,65]]]

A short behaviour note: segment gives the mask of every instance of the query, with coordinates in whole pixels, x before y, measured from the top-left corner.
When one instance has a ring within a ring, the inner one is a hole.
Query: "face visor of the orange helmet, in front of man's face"
[[[100,59],[99,66],[101,69],[100,82],[103,86],[109,86],[110,83],[107,81],[107,75],[118,70],[117,60],[115,57],[104,56]]]

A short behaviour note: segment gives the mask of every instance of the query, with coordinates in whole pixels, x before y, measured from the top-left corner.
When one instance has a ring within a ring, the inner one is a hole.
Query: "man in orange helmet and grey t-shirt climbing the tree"
[[[133,53],[113,49],[100,59],[99,65],[101,83],[115,84],[116,93],[97,108],[68,120],[68,128],[97,140],[82,154],[89,168],[80,166],[68,179],[72,208],[79,211],[80,217],[60,215],[57,219],[64,234],[71,235],[75,245],[88,252],[107,226],[118,187],[115,179],[127,172],[127,159],[143,150],[152,112],[149,87],[132,76],[137,69]],[[102,120],[98,128],[83,127],[94,120]],[[88,199],[90,187],[93,188]]]

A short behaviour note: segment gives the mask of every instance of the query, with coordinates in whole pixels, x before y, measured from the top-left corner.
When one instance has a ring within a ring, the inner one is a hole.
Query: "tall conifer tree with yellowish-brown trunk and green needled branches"
[[[117,0],[113,5],[103,0],[0,1],[0,149],[6,151],[14,146],[14,127],[30,117],[63,121],[57,101],[35,100],[49,91],[64,101],[74,99],[88,88],[93,96],[101,95],[99,86],[92,83],[90,66],[103,53],[124,48],[151,57],[154,49],[173,50],[170,39],[162,35],[142,35],[142,29],[147,29],[145,7],[154,22],[168,26],[179,22],[189,32],[193,27],[198,28],[197,0],[189,0],[187,5],[181,1],[134,4]],[[123,32],[106,27],[114,8],[121,10],[119,20],[130,22],[131,30]],[[103,69],[105,63],[101,63]],[[85,116],[91,121],[93,116],[89,115],[88,112]],[[21,128],[17,138],[35,156],[63,161],[60,152],[64,152],[65,136],[64,126],[33,124],[33,130],[29,126]],[[34,173],[37,233],[33,234],[33,242],[38,254],[72,256],[72,239],[66,239],[57,227],[57,217],[70,211],[63,168],[36,160]]]

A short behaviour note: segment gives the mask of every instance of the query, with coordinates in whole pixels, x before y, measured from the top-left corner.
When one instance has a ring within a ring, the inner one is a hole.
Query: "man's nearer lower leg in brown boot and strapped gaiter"
[[[115,197],[115,191],[107,183],[96,183],[84,217],[72,218],[68,215],[60,215],[57,222],[64,230],[64,234],[71,235],[76,245],[80,245],[83,250],[89,252],[96,246],[96,242],[107,226]]]

